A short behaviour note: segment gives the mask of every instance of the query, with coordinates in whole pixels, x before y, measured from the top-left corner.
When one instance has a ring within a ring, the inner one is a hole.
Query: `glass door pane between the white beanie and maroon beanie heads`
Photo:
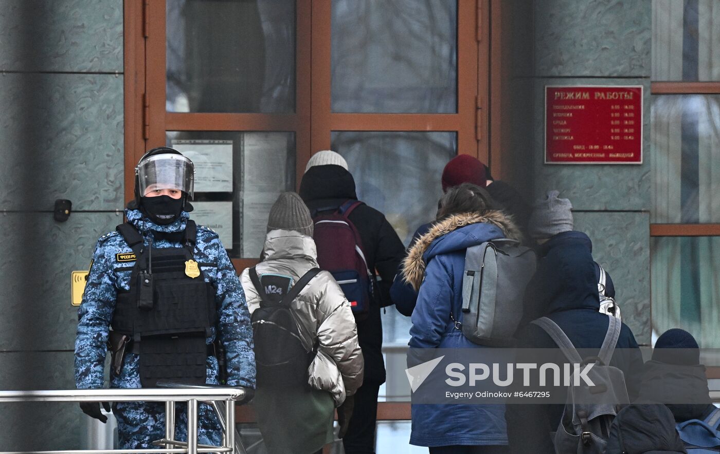
[[[457,153],[456,133],[334,131],[331,137],[359,199],[379,209],[408,245],[415,229],[435,219],[440,176]]]

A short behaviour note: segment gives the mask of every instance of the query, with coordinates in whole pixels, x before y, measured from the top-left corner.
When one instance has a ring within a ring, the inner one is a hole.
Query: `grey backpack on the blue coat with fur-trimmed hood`
[[[462,278],[462,333],[481,345],[509,345],[535,273],[533,250],[502,238],[467,248]],[[452,314],[451,314],[452,317]]]

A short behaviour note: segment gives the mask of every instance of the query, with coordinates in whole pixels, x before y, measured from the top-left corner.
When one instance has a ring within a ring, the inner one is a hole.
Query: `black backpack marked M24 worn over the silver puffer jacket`
[[[258,277],[255,267],[248,271],[261,298],[253,312],[253,341],[259,386],[307,386],[307,368],[315,358],[318,345],[305,350],[292,314],[291,304],[320,268],[312,268],[290,288],[291,278],[267,274]]]

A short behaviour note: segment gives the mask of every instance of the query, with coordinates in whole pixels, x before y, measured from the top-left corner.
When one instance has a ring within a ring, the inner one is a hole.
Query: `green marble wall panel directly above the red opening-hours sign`
[[[536,76],[650,75],[650,0],[536,0],[534,5]]]

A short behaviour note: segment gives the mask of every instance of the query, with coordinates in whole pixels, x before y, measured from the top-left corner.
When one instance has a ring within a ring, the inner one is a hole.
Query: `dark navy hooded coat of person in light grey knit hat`
[[[608,331],[608,316],[600,314],[592,242],[582,232],[563,232],[539,249],[538,268],[526,291],[526,323],[518,329],[518,347],[555,348],[552,338],[527,322],[549,317],[577,349],[599,349]],[[639,392],[642,354],[634,335],[622,325],[611,360],[625,374],[631,401]],[[556,391],[552,391],[553,393]],[[557,391],[567,392],[567,391]],[[564,395],[564,394],[562,394]],[[557,430],[562,404],[508,405],[508,442],[513,453],[554,453],[550,432]]]

